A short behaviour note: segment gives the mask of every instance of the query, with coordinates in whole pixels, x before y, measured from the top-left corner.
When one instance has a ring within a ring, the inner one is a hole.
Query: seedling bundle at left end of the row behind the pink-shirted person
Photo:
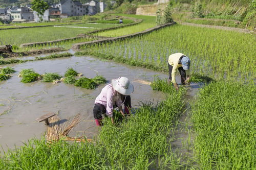
[[[36,80],[40,80],[41,76],[36,73],[33,69],[23,69],[19,72],[18,77],[22,77],[21,82],[30,83]]]

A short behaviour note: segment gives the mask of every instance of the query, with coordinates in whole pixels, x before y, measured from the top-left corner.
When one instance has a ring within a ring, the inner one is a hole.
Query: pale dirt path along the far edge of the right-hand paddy
[[[209,25],[201,25],[201,24],[189,23],[189,22],[179,22],[179,24],[186,25],[186,26],[214,28],[214,29],[227,30],[227,31],[237,31],[237,32],[241,32],[241,33],[255,33],[255,31],[240,29],[240,28],[231,28],[231,27],[223,27],[223,26],[209,26]]]

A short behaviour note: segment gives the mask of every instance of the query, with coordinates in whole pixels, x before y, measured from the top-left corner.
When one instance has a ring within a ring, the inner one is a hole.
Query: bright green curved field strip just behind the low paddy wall
[[[118,15],[133,17],[137,19],[143,19],[143,21],[135,26],[129,26],[129,27],[124,27],[117,30],[110,30],[110,31],[95,33],[95,35],[106,36],[106,37],[116,37],[116,36],[122,36],[122,35],[133,34],[136,32],[144,31],[146,29],[156,26],[155,16],[128,15],[128,14],[118,14]]]

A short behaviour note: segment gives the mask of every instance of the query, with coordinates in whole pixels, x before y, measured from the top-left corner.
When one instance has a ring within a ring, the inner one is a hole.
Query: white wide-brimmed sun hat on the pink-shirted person
[[[130,95],[134,91],[133,85],[126,77],[111,80],[113,88],[123,95]]]

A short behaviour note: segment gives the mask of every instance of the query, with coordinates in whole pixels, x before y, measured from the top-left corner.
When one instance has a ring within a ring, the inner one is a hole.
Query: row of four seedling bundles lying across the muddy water
[[[95,89],[96,86],[100,84],[104,84],[106,79],[101,75],[97,75],[96,77],[90,79],[87,77],[81,77],[76,79],[76,77],[81,77],[82,74],[78,74],[76,70],[73,68],[68,68],[65,73],[65,78],[62,78],[59,74],[46,72],[43,75],[39,75],[32,69],[23,69],[19,72],[18,77],[21,77],[21,82],[23,83],[31,83],[37,80],[41,80],[42,82],[52,82],[53,84],[60,83],[64,81],[66,84],[74,84],[75,86],[86,88],[86,89]]]

